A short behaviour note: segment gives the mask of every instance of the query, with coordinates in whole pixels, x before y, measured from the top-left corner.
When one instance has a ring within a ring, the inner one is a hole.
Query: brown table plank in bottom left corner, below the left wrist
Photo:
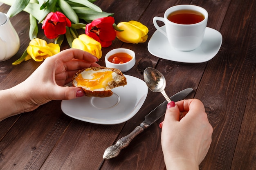
[[[23,113],[0,141],[0,169],[39,169],[71,120],[59,101]]]

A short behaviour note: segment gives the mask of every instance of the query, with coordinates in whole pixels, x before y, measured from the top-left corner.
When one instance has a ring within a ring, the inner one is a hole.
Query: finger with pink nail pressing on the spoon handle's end
[[[180,120],[180,110],[178,106],[175,105],[175,102],[172,101],[167,104],[166,113],[164,115],[164,121],[170,122],[170,121],[179,121],[179,120]],[[160,128],[162,128],[164,121],[162,121],[159,124]]]

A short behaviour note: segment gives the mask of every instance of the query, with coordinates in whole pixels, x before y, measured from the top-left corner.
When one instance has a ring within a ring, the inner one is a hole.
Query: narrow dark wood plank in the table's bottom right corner
[[[255,24],[254,24],[255,26]],[[254,29],[255,30],[255,29]],[[249,49],[254,55],[256,49],[256,35],[250,39],[252,48]],[[255,65],[254,65],[255,66]],[[255,170],[256,169],[256,67],[252,78],[251,88],[246,100],[245,114],[240,128],[238,142],[231,165],[231,170]]]

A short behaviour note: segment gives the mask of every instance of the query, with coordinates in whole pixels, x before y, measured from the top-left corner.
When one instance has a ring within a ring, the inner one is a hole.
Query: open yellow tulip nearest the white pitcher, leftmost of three
[[[25,60],[33,58],[36,62],[41,62],[43,59],[53,56],[59,52],[60,46],[58,44],[47,44],[45,40],[35,38],[29,42],[27,53],[30,55],[30,57],[27,56]]]

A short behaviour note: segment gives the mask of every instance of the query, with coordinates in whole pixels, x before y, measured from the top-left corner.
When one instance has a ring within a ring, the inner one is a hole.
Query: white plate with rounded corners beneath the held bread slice
[[[127,85],[112,89],[110,97],[79,97],[63,100],[61,110],[66,115],[95,124],[120,124],[132,118],[148,95],[146,83],[125,75]]]

